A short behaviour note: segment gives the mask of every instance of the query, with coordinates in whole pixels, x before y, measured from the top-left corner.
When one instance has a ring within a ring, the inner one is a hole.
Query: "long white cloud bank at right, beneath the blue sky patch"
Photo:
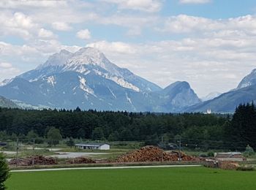
[[[256,34],[256,16],[246,15],[238,18],[208,19],[190,15],[177,15],[166,18],[164,26],[156,28],[157,31],[170,33],[194,33],[200,36],[205,34]]]

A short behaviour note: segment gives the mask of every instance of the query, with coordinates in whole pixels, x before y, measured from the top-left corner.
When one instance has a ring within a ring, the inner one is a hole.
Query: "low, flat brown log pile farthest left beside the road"
[[[45,157],[45,156],[30,156],[23,159],[18,159],[18,166],[31,166],[33,165],[53,165],[58,164],[56,159],[53,159],[51,157]],[[16,164],[16,159],[11,159],[9,161],[10,165]]]

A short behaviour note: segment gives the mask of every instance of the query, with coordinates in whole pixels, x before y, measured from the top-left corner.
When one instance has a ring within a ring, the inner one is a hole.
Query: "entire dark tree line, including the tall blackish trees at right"
[[[247,112],[250,112],[247,115]],[[246,117],[246,118],[244,118]],[[255,118],[254,118],[255,117]],[[182,138],[191,148],[238,149],[246,144],[256,147],[256,112],[254,105],[240,105],[233,119],[230,115],[203,113],[127,113],[95,110],[19,110],[0,108],[0,140],[8,135],[19,137],[48,137],[109,141],[145,141],[156,144]],[[51,134],[51,131],[58,134]],[[246,132],[245,130],[246,129]],[[58,139],[59,140],[59,139]],[[239,140],[244,144],[236,144]],[[233,142],[233,143],[230,143]]]

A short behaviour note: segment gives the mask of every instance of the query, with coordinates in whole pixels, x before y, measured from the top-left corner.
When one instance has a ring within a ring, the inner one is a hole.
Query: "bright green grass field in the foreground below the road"
[[[206,167],[141,168],[117,170],[64,170],[16,172],[7,181],[14,190],[66,189],[256,189],[256,172]]]

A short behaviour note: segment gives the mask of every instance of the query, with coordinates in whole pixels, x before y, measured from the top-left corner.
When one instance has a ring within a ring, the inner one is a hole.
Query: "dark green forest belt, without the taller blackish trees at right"
[[[0,131],[24,136],[34,130],[45,137],[50,127],[60,129],[62,137],[92,140],[165,140],[183,137],[221,140],[227,118],[204,114],[157,114],[97,112],[80,109],[19,110],[1,108]]]

